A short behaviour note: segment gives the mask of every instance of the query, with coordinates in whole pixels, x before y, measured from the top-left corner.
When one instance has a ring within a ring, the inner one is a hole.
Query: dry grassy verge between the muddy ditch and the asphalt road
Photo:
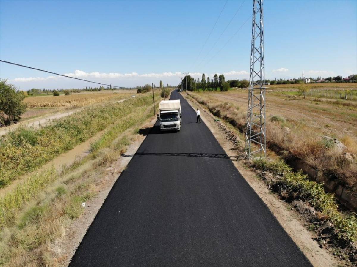
[[[106,170],[152,117],[151,101],[111,125],[84,159],[32,175],[0,199],[0,265],[63,265],[68,229],[85,211],[81,204],[106,186]]]

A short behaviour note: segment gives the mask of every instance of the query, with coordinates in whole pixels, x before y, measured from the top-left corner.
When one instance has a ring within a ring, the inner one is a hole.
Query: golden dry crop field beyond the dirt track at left
[[[128,98],[133,94],[133,91],[100,91],[90,93],[73,93],[69,96],[34,96],[27,97],[24,102],[29,108],[35,107],[84,107],[90,104],[120,100]]]

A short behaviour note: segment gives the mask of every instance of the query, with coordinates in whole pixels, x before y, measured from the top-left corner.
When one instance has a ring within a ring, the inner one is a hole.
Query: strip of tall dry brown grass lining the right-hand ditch
[[[187,92],[198,103],[205,105],[209,111],[237,127],[245,130],[246,111],[230,102],[222,102],[209,95]],[[339,151],[335,144],[321,139],[316,130],[296,120],[271,116],[267,124],[267,147],[278,147],[284,151],[283,158],[297,157],[318,170],[322,175],[335,179],[339,184],[357,194],[357,162],[347,160],[343,153],[357,154],[357,144],[346,135],[341,141],[346,145],[345,151]]]

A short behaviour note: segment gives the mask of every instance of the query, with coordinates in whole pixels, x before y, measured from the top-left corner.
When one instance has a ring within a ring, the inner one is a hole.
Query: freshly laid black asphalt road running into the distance
[[[70,266],[311,266],[187,101],[171,99],[181,132],[155,124]]]

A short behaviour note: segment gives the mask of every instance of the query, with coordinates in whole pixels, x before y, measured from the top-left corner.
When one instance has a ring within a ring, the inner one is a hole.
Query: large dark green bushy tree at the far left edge
[[[20,120],[26,109],[26,104],[22,103],[24,98],[24,93],[16,91],[13,84],[0,79],[0,127]]]

